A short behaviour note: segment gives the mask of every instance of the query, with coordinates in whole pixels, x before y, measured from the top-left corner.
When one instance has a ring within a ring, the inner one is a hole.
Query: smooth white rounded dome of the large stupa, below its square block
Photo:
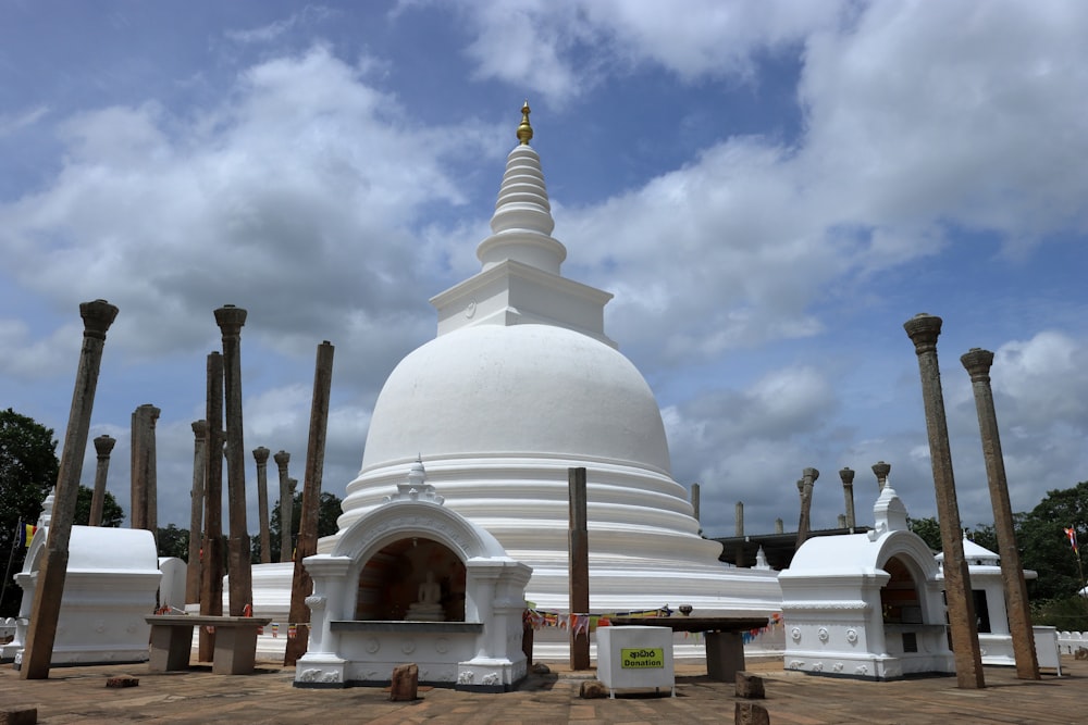
[[[462,328],[397,365],[374,407],[362,470],[418,454],[557,455],[669,472],[660,411],[635,366],[586,335],[539,324]]]

